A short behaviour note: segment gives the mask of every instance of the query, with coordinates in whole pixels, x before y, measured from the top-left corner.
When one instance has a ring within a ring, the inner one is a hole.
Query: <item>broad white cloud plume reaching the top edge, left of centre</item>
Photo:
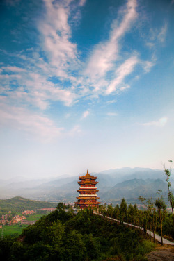
[[[50,65],[57,69],[56,75],[67,77],[66,69],[77,62],[77,45],[70,42],[68,24],[72,0],[44,2],[46,13],[38,26],[42,35],[42,49],[46,51]]]

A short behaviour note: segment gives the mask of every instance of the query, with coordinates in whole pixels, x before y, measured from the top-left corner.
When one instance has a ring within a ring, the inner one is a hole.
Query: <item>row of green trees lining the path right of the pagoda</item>
[[[168,239],[174,239],[173,215],[166,212],[166,204],[163,199],[159,197],[154,203],[151,199],[142,197],[140,197],[140,200],[144,203],[144,210],[138,210],[136,204],[134,206],[130,204],[127,207],[123,198],[120,206],[116,205],[115,208],[112,205],[107,207],[100,205],[99,212],[121,222],[125,221],[143,227],[144,231],[149,229],[152,233],[159,235],[162,231],[162,235],[165,235]]]

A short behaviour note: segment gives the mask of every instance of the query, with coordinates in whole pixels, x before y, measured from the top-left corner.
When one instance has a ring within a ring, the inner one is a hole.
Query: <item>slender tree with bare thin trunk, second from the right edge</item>
[[[161,190],[159,190],[159,194],[161,195]],[[157,207],[159,214],[159,221],[161,226],[161,245],[163,245],[163,220],[166,214],[166,203],[164,202],[162,195],[161,198],[158,198],[155,201],[155,206]]]

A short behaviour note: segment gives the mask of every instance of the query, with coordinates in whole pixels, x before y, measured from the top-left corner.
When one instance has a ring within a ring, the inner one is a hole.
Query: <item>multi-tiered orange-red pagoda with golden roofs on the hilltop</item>
[[[79,190],[77,190],[77,192],[79,192],[79,196],[77,197],[78,201],[75,202],[75,204],[77,205],[77,207],[79,206],[79,208],[98,208],[98,205],[101,202],[98,202],[97,199],[100,199],[99,197],[97,197],[96,192],[98,192],[96,184],[97,181],[95,181],[97,179],[97,177],[95,176],[91,176],[87,173],[85,176],[81,176],[79,177],[79,182],[78,184],[80,185]]]

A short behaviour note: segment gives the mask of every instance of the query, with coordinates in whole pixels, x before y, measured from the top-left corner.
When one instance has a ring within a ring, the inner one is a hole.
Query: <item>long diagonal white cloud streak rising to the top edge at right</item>
[[[120,12],[120,17],[122,16],[122,22],[119,25],[118,21],[113,22],[109,40],[97,44],[95,47],[85,70],[90,78],[103,77],[107,71],[113,68],[113,62],[116,61],[118,55],[118,41],[129,30],[132,22],[136,20],[136,0],[127,1],[126,9]]]

